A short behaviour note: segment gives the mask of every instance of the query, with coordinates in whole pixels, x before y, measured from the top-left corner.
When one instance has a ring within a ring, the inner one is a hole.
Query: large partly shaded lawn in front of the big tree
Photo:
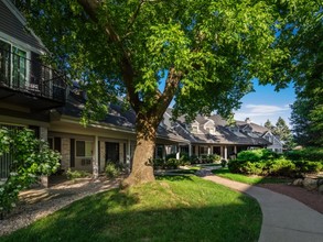
[[[257,241],[259,205],[195,176],[112,189],[73,202],[0,241]]]

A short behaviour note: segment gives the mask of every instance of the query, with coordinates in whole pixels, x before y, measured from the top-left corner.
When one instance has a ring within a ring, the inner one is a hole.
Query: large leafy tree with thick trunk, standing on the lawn
[[[99,119],[118,96],[136,112],[127,180],[136,184],[153,180],[144,164],[172,100],[174,116],[228,117],[252,78],[282,87],[286,43],[298,35],[290,26],[312,23],[319,11],[314,0],[62,0],[32,1],[28,20],[52,65],[86,89],[85,120]]]

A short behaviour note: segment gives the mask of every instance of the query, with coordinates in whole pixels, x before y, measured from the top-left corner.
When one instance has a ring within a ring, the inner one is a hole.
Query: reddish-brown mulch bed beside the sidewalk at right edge
[[[309,191],[302,187],[286,184],[261,184],[260,187],[292,197],[310,208],[323,213],[323,195],[319,191]]]

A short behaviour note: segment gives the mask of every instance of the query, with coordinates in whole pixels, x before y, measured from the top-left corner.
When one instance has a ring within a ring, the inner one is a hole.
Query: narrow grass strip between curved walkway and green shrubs
[[[243,174],[234,174],[230,173],[228,168],[222,168],[222,169],[214,169],[212,170],[213,174],[227,178],[227,179],[232,179],[232,180],[236,180],[236,182],[240,182],[240,183],[245,183],[245,184],[251,184],[251,185],[257,185],[257,184],[282,184],[282,183],[290,183],[291,179],[288,178],[280,178],[280,177],[265,177],[265,176],[247,176],[247,175],[243,175]]]

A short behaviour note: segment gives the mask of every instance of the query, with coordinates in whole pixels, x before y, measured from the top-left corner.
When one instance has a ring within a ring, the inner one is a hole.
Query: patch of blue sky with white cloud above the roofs
[[[250,92],[241,99],[243,106],[235,111],[235,119],[250,118],[251,122],[263,125],[267,119],[276,124],[278,118],[281,117],[290,125],[290,105],[295,100],[293,86],[290,85],[277,92],[273,90],[273,86],[259,86],[258,81],[255,81],[254,88],[255,92]]]

